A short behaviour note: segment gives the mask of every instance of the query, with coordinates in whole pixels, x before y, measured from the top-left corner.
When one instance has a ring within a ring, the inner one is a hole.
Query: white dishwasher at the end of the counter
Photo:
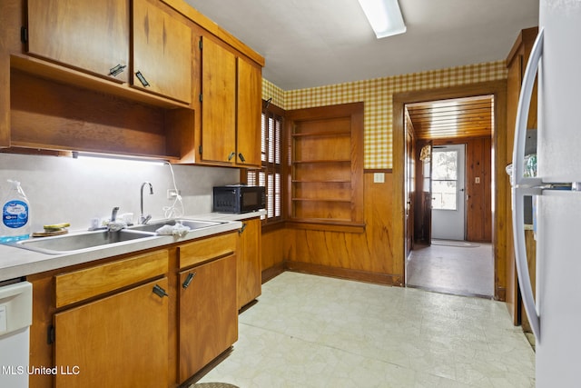
[[[28,388],[33,285],[0,283],[0,387]]]

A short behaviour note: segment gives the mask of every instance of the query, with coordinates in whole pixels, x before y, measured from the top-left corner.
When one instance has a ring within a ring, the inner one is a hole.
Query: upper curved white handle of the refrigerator
[[[513,165],[513,184],[517,186],[537,186],[542,184],[539,178],[525,178],[525,142],[527,140],[527,120],[528,110],[530,108],[530,99],[533,95],[535,86],[535,77],[537,76],[538,64],[543,55],[543,35],[544,30],[541,28],[537,35],[537,40],[533,45],[528,58],[527,69],[523,78],[523,85],[520,89],[517,105],[517,123],[515,127],[515,141],[512,154]]]

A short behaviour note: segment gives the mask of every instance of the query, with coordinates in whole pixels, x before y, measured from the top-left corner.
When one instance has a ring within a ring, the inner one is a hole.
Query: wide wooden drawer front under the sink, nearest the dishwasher
[[[168,251],[140,254],[54,276],[56,308],[167,274]]]

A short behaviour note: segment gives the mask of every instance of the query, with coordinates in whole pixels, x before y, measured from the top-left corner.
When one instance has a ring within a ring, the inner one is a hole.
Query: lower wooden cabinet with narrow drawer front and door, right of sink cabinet
[[[238,339],[236,234],[179,248],[179,381]]]

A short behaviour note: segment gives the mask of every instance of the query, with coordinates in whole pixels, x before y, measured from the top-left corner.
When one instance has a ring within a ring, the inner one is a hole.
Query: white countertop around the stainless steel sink
[[[0,282],[14,279],[29,274],[39,274],[74,264],[83,264],[105,257],[119,254],[130,254],[145,249],[162,247],[163,245],[178,242],[187,242],[196,238],[206,237],[212,234],[221,234],[240,229],[241,221],[245,219],[259,217],[266,214],[266,211],[245,213],[245,214],[196,214],[182,216],[193,220],[214,220],[223,221],[224,224],[197,229],[189,232],[184,237],[172,235],[153,235],[123,243],[101,245],[96,248],[83,250],[69,254],[41,254],[28,249],[0,244]],[[152,223],[155,220],[152,221]],[[84,233],[86,231],[75,231],[71,233]]]

